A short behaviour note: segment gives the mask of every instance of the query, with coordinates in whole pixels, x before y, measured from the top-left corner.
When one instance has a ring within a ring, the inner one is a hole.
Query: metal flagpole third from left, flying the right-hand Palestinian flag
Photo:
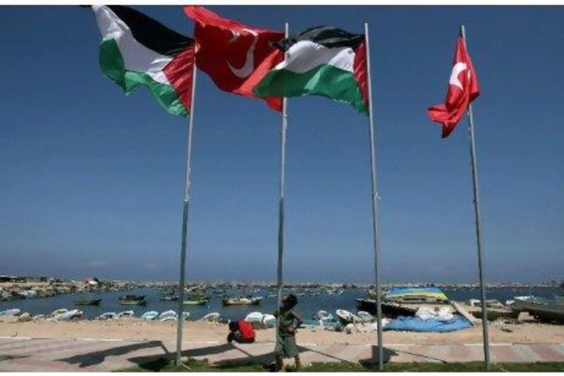
[[[376,323],[378,325],[378,369],[384,370],[384,346],[382,344],[382,306],[380,291],[380,243],[378,235],[378,188],[376,186],[376,150],[374,147],[374,111],[372,109],[372,76],[370,75],[370,43],[368,23],[364,23],[364,38],[366,39],[366,65],[368,73],[368,110],[369,110],[369,138],[370,138],[370,176],[372,177],[372,226],[374,235],[374,277],[376,279]]]

